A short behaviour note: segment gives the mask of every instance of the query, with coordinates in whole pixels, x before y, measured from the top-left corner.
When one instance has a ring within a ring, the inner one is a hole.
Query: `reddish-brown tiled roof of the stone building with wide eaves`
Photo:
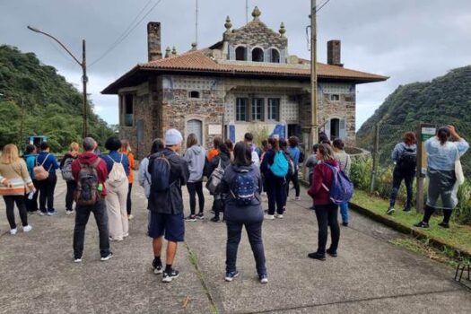
[[[246,61],[215,61],[211,56],[211,49],[190,51],[178,56],[162,58],[145,64],[135,65],[126,74],[114,83],[111,83],[102,93],[116,94],[118,89],[133,86],[143,80],[145,73],[188,73],[188,74],[218,74],[222,76],[257,76],[257,77],[283,77],[293,79],[309,79],[310,65],[306,64],[269,64]],[[370,74],[336,65],[318,63],[318,78],[332,80],[347,80],[355,83],[370,83],[385,81],[388,76]],[[139,81],[141,80],[141,81]]]

